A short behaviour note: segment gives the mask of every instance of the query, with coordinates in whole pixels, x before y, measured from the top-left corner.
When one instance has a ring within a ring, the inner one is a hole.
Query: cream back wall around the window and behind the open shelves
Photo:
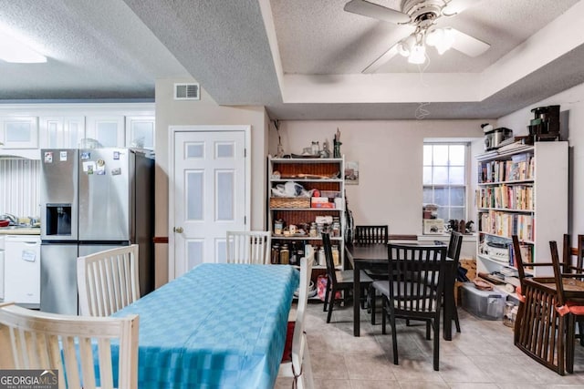
[[[341,154],[359,162],[359,185],[346,186],[355,222],[387,223],[391,234],[419,235],[423,139],[482,138],[482,123],[485,120],[290,120],[279,128],[285,152],[295,154],[312,140],[322,147],[328,139],[332,146],[339,128]],[[270,128],[271,154],[276,154],[276,144],[276,130]],[[473,194],[469,196],[472,204]]]

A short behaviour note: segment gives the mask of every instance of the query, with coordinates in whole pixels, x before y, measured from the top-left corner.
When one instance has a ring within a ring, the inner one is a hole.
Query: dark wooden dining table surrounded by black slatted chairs
[[[418,243],[411,243],[420,246]],[[353,268],[353,301],[360,301],[360,271],[365,269],[388,270],[387,244],[348,244],[345,246],[347,258]],[[446,277],[443,298],[443,339],[453,338],[454,309],[454,260],[446,258]],[[360,336],[360,304],[353,303],[353,336]]]

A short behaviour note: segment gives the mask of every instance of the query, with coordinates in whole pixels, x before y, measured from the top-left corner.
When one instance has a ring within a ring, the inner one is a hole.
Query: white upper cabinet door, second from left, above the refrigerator
[[[40,148],[78,148],[85,138],[85,117],[40,118]]]

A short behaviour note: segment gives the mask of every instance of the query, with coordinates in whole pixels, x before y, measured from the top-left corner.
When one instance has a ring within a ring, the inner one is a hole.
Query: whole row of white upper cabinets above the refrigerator
[[[39,159],[39,148],[153,150],[154,124],[153,103],[0,105],[0,156]]]

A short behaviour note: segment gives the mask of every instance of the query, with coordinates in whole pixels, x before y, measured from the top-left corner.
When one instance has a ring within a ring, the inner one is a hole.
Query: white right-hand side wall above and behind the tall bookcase
[[[529,120],[534,118],[531,109],[550,105],[560,106],[560,127],[562,131],[568,130],[570,155],[568,232],[573,235],[584,234],[584,219],[582,219],[584,215],[584,84],[499,118],[498,126],[512,128],[516,135],[527,135]],[[572,238],[572,242],[574,241]]]

